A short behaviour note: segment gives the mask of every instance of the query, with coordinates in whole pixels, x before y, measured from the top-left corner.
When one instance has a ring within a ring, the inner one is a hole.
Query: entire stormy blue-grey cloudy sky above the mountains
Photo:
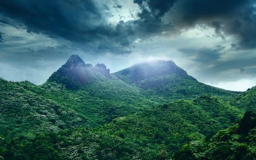
[[[0,77],[43,84],[72,54],[111,73],[173,60],[199,82],[245,91],[256,85],[256,1],[0,1]]]

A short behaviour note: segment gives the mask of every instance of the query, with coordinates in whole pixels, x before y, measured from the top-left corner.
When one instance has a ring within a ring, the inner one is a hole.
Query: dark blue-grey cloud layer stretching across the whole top
[[[171,34],[197,24],[214,27],[217,34],[237,38],[237,48],[255,48],[256,14],[253,0],[134,0],[139,19],[107,22],[109,6],[93,0],[0,1],[0,12],[20,21],[28,31],[60,36],[102,51],[129,50],[136,38],[163,31]],[[116,2],[116,7],[122,6]],[[11,23],[11,22],[9,22]],[[11,24],[12,25],[12,24]]]

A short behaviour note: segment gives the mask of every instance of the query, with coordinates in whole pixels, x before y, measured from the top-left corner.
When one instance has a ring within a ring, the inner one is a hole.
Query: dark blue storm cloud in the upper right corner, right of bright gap
[[[239,41],[238,44],[233,44],[236,48],[256,47],[254,0],[134,0],[134,3],[141,8],[139,17],[145,25],[149,19],[158,22],[158,26],[152,27],[156,30],[163,29],[166,24],[174,26],[169,28],[173,32],[205,24],[215,28],[222,38],[225,38],[223,34],[235,36]]]

